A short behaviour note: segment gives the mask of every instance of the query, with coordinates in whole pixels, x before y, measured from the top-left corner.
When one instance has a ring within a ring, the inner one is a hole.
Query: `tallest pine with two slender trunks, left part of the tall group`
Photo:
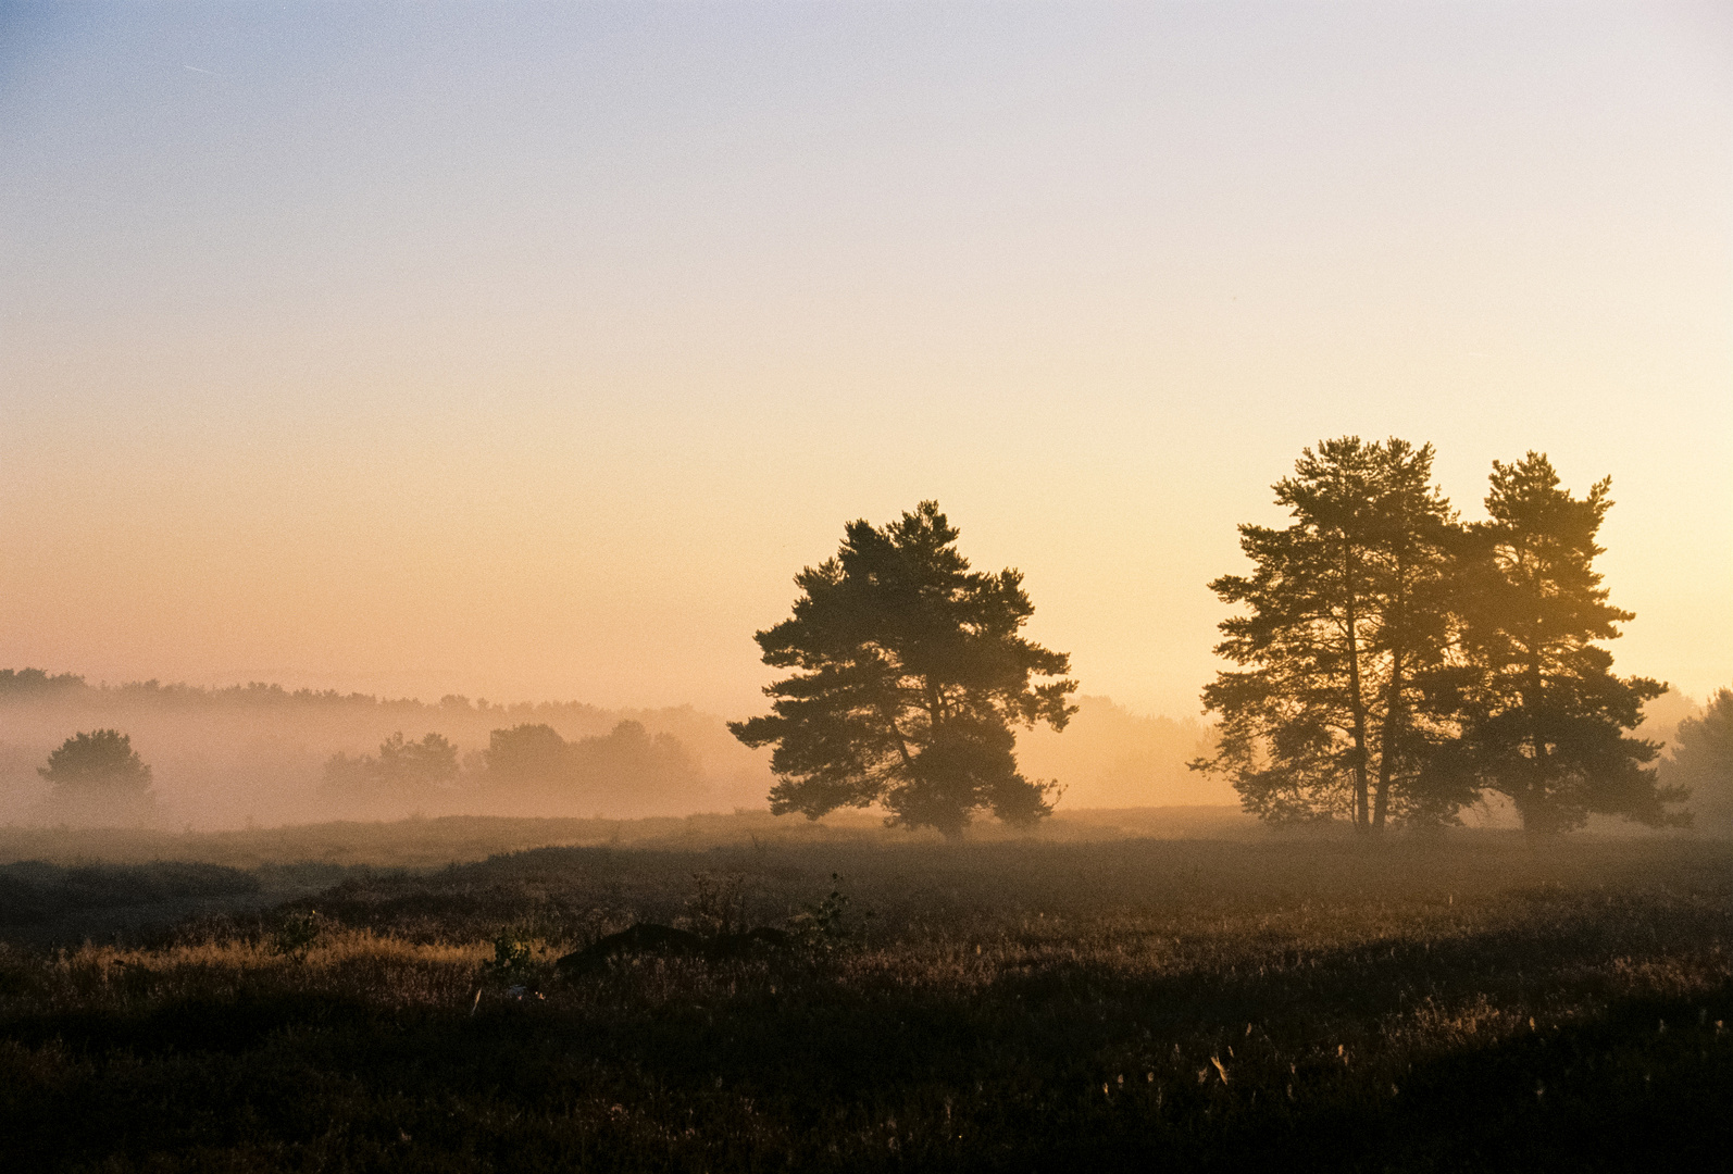
[[[1360,831],[1393,814],[1454,817],[1471,793],[1426,774],[1451,729],[1437,696],[1451,637],[1457,526],[1431,485],[1431,445],[1326,440],[1274,485],[1286,528],[1239,526],[1251,575],[1210,589],[1243,615],[1217,655],[1241,665],[1203,693],[1220,713],[1217,755],[1265,819],[1347,814]]]

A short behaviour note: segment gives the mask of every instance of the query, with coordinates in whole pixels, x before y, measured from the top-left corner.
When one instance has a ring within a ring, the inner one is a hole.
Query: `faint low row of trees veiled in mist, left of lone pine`
[[[333,797],[412,800],[459,781],[520,795],[634,800],[691,795],[702,786],[698,765],[678,738],[650,734],[634,720],[577,741],[544,724],[496,729],[487,750],[468,764],[440,734],[407,741],[397,732],[380,743],[378,755],[336,753],[324,767]]]

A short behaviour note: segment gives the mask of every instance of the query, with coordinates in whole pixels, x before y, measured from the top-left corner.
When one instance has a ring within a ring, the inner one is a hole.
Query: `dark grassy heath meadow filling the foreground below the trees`
[[[130,874],[80,883],[99,873]],[[253,873],[151,876],[185,895]],[[7,1169],[1622,1171],[1733,1153],[1724,842],[749,842],[343,876],[109,944],[73,945],[71,906],[62,947],[12,935]],[[555,966],[641,921],[789,940]]]

